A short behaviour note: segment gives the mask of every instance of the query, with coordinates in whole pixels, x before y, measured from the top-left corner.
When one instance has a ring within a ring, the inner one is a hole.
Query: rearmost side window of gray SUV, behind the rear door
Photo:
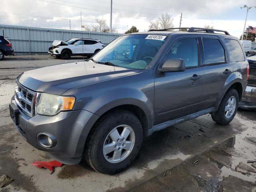
[[[244,52],[237,40],[225,39],[225,42],[230,51],[230,56],[235,60],[235,62],[245,61]]]

